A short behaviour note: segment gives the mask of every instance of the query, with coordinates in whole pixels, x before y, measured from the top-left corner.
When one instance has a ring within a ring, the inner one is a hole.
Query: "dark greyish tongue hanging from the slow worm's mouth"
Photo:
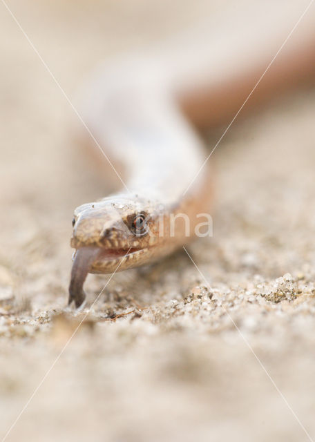
[[[99,249],[97,247],[82,247],[75,252],[69,285],[68,305],[75,301],[75,307],[78,308],[84,302],[86,298],[83,289],[84,281],[86,280],[88,271],[98,254]]]

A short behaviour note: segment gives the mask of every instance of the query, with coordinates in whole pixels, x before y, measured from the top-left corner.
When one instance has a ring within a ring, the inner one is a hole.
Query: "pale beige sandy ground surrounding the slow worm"
[[[99,59],[209,8],[175,1],[169,17],[161,1],[148,21],[146,2],[117,3],[10,7],[72,98]],[[2,5],[0,20],[2,438],[82,320],[64,309],[72,213],[106,187]],[[231,128],[212,160],[214,236],[189,247],[207,283],[184,253],[117,274],[8,441],[315,438],[314,115],[307,90]],[[107,279],[89,276],[90,302]]]

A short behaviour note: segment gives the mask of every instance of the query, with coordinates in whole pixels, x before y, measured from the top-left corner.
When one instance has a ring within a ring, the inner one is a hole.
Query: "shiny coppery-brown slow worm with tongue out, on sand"
[[[84,302],[87,273],[146,265],[195,236],[198,216],[209,212],[212,199],[210,162],[196,175],[209,152],[195,128],[226,124],[245,102],[294,23],[296,11],[285,18],[283,9],[273,12],[267,30],[264,17],[253,14],[233,34],[235,17],[225,17],[202,44],[187,49],[183,39],[178,50],[128,57],[96,73],[84,118],[115,166],[123,166],[124,188],[75,209],[69,304]],[[312,11],[243,111],[313,79],[314,23]]]

